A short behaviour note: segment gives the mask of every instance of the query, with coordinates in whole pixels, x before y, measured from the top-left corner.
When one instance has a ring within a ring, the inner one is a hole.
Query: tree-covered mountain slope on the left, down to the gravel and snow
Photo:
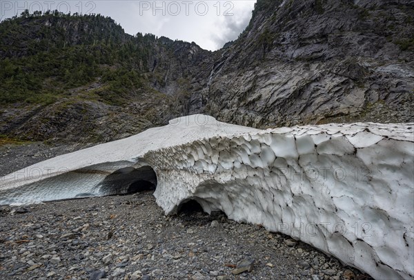
[[[31,140],[108,141],[184,114],[210,53],[99,15],[26,14],[0,37],[0,134]]]

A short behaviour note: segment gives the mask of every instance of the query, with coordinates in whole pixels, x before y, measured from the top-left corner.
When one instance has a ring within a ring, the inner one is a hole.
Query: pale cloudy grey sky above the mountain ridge
[[[237,39],[248,26],[256,0],[234,1],[0,1],[0,19],[23,10],[59,10],[72,14],[102,14],[121,24],[128,34],[152,33],[172,40],[195,42],[206,50],[218,50]]]

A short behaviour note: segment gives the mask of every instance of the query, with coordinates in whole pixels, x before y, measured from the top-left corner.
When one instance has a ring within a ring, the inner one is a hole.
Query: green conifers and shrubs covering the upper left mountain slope
[[[5,20],[0,38],[3,104],[52,103],[97,81],[103,101],[122,103],[145,86],[142,74],[157,43],[152,34],[125,34],[109,17],[57,11]]]

